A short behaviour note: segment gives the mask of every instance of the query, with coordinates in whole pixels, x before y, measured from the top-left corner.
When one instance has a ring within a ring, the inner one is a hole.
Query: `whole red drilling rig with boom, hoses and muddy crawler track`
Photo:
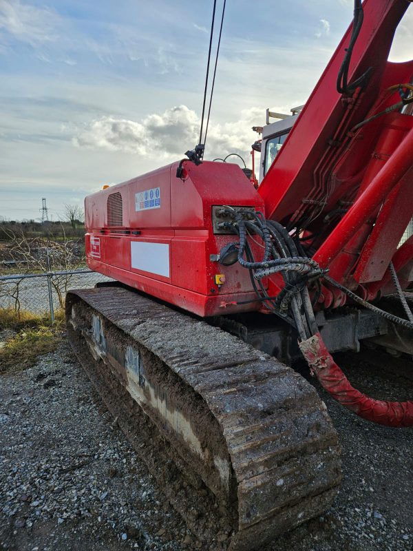
[[[200,143],[85,200],[87,263],[114,281],[68,293],[70,341],[211,549],[259,549],[337,492],[337,433],[297,357],[354,413],[413,424],[330,354],[413,353],[413,61],[388,61],[408,6],[355,1],[257,189]]]

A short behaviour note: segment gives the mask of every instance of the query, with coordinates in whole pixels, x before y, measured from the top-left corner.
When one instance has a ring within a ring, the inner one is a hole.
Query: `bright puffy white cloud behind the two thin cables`
[[[235,152],[248,162],[251,143],[256,138],[251,127],[262,124],[262,118],[263,110],[252,108],[242,111],[239,121],[210,123],[205,157],[223,157]],[[180,105],[162,114],[151,114],[141,122],[104,116],[78,132],[73,143],[78,147],[173,160],[198,143],[199,132],[198,115]]]

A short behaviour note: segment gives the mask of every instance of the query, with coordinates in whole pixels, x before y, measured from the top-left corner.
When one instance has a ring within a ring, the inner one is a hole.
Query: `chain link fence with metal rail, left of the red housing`
[[[50,313],[63,308],[70,289],[86,289],[96,283],[110,281],[91,270],[65,270],[46,273],[25,273],[0,276],[0,309]]]

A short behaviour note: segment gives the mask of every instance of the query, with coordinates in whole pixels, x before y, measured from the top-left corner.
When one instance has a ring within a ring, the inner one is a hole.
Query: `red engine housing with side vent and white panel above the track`
[[[240,264],[218,262],[237,237],[218,227],[216,213],[264,211],[262,198],[237,165],[184,166],[184,180],[174,163],[86,198],[89,268],[201,316],[222,313],[222,304],[225,313],[260,309],[229,305],[257,295]]]

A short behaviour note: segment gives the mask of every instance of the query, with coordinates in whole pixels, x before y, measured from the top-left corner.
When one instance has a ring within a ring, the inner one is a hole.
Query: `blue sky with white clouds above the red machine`
[[[0,0],[0,216],[39,218],[45,197],[58,220],[192,148],[212,4]],[[206,158],[248,160],[251,126],[304,103],[352,19],[351,0],[251,6],[226,2]],[[411,16],[394,61],[413,57]]]

